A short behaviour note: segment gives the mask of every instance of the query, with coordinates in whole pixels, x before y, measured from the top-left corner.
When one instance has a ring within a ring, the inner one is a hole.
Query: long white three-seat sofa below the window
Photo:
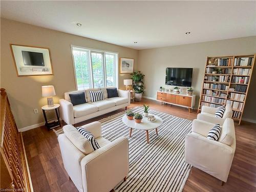
[[[90,91],[102,90],[104,100],[91,102]],[[60,99],[62,120],[67,124],[75,124],[87,119],[97,117],[130,105],[130,92],[117,90],[119,97],[108,98],[106,88],[84,90],[87,103],[73,106],[69,94],[77,94],[83,91],[71,91],[64,94],[65,99]]]

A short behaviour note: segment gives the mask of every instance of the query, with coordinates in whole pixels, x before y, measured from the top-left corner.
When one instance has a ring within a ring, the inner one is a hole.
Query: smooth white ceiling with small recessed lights
[[[253,1],[1,1],[1,17],[133,49],[256,35]]]

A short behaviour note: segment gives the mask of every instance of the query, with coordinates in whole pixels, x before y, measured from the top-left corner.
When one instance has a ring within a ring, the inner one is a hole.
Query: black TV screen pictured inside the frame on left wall
[[[42,53],[22,51],[22,57],[25,66],[45,66]]]

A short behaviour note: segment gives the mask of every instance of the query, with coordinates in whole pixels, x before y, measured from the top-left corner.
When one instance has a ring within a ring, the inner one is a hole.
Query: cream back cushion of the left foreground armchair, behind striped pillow
[[[84,155],[92,153],[94,150],[90,141],[81,135],[78,130],[72,125],[63,126],[63,131],[66,137],[80,150]]]

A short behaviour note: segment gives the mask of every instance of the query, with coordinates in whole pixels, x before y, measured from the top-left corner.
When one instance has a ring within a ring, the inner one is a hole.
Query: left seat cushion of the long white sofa
[[[92,114],[92,113],[98,111],[97,106],[94,106],[90,103],[75,105],[73,107],[73,109],[74,109],[74,117],[75,118],[89,115],[89,114]]]

